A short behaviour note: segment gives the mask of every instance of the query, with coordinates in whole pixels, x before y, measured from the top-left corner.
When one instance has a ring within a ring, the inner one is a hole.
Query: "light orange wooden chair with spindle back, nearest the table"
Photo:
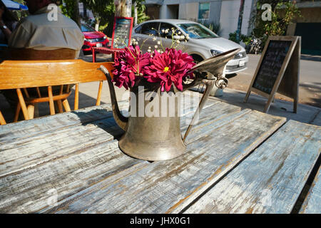
[[[0,63],[0,90],[16,89],[19,105],[26,120],[31,119],[26,101],[22,95],[23,88],[36,88],[48,86],[49,107],[51,115],[55,114],[54,100],[61,97],[52,94],[52,86],[76,84],[74,110],[78,110],[78,83],[100,81],[96,105],[101,103],[101,90],[105,74],[100,66],[105,66],[111,73],[113,63],[88,63],[82,60],[60,60],[60,61],[4,61]],[[32,80],[26,80],[32,78]],[[39,98],[41,99],[41,98]],[[70,111],[63,102],[66,111]],[[6,124],[0,112],[1,125]]]

